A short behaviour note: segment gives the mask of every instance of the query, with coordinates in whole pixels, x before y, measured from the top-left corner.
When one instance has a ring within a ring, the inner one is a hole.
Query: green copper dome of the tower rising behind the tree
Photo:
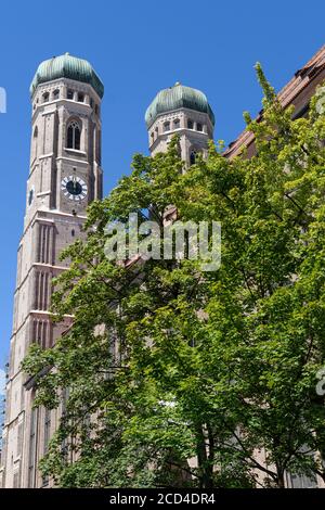
[[[150,127],[158,115],[172,110],[190,109],[207,113],[214,125],[214,115],[208,103],[206,94],[200,90],[192,89],[177,82],[169,89],[160,90],[145,112],[146,126]]]

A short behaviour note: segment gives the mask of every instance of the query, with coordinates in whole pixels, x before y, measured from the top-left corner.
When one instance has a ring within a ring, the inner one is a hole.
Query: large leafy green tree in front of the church
[[[283,487],[287,472],[325,480],[325,119],[283,111],[261,67],[256,155],[222,144],[185,173],[166,154],[135,155],[132,173],[89,208],[87,242],[63,257],[56,320],[69,330],[24,361],[36,405],[66,409],[43,473],[69,487]],[[109,221],[222,224],[222,264],[104,255]],[[68,455],[70,454],[70,455]],[[72,457],[73,456],[73,457]],[[72,461],[73,459],[73,461]],[[263,460],[264,459],[264,460]]]

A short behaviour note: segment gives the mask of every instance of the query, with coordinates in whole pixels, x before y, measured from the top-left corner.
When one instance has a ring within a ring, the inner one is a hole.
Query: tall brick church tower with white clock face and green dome
[[[52,279],[60,253],[82,237],[86,208],[102,197],[101,100],[104,86],[86,60],[68,53],[42,62],[30,86],[31,141],[24,233],[18,245],[6,384],[0,486],[41,487],[37,464],[56,411],[34,409],[34,381],[21,362],[28,347],[55,343],[69,324],[51,322]]]

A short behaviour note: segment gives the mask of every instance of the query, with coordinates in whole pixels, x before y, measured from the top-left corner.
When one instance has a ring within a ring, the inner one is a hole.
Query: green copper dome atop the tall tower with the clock
[[[42,62],[35,73],[30,85],[30,95],[34,94],[39,84],[46,84],[58,78],[70,78],[76,81],[89,84],[98,92],[100,98],[104,95],[104,85],[87,60],[78,59],[69,53],[53,56]]]

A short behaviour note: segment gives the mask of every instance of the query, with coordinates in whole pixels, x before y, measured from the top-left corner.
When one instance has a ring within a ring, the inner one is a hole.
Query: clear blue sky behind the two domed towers
[[[278,90],[324,41],[324,0],[62,0],[2,2],[0,87],[0,367],[8,356],[28,175],[28,88],[38,64],[68,51],[89,60],[105,84],[102,107],[105,193],[147,153],[144,112],[177,80],[202,89],[216,114],[216,139],[232,141],[256,114],[260,61]]]

